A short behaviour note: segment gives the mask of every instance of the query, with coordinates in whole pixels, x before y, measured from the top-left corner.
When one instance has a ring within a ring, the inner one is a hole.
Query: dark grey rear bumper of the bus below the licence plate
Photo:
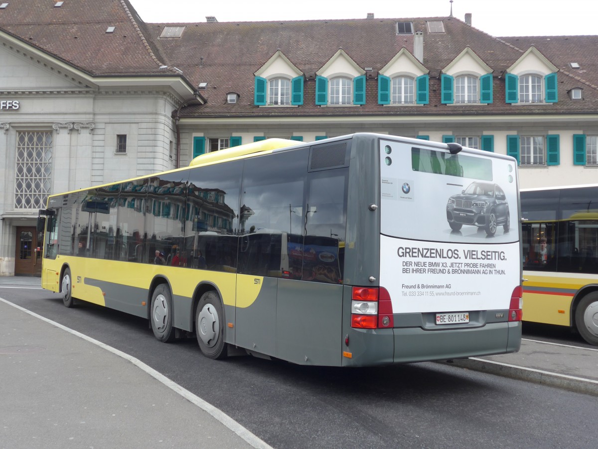
[[[520,321],[450,331],[407,327],[393,332],[395,363],[514,353],[521,346]]]

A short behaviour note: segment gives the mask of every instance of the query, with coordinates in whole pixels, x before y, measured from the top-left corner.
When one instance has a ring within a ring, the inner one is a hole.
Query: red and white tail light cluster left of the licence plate
[[[392,328],[392,302],[384,287],[353,287],[351,327],[359,329]]]

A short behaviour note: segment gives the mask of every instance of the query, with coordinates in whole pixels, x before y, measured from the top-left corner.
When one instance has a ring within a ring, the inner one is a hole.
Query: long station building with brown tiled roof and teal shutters
[[[128,0],[5,2],[0,274],[35,272],[22,241],[49,193],[269,137],[457,141],[517,157],[522,187],[594,182],[598,36],[496,38],[467,16],[145,23]]]

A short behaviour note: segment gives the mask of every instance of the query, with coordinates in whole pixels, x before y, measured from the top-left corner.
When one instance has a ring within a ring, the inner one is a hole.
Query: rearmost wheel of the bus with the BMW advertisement
[[[203,355],[210,359],[228,356],[228,345],[224,342],[224,310],[214,291],[204,293],[197,304],[195,333]]]

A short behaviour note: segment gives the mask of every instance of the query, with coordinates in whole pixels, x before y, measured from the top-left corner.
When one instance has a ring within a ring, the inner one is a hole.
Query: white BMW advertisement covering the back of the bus
[[[380,286],[393,312],[450,324],[508,308],[520,284],[515,163],[381,140],[380,165]]]

